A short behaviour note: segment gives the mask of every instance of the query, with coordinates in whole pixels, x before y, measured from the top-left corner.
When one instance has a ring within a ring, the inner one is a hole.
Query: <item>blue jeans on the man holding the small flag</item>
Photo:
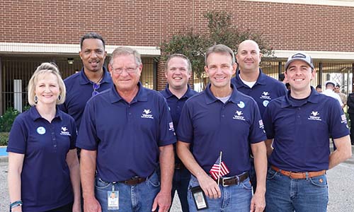
[[[191,212],[197,211],[197,208],[190,189],[198,185],[198,179],[192,175],[188,187],[188,204]],[[202,211],[249,212],[252,198],[252,187],[249,178],[245,179],[244,182],[229,187],[219,185],[219,188],[222,194],[221,198],[210,199],[206,197],[209,208]]]

